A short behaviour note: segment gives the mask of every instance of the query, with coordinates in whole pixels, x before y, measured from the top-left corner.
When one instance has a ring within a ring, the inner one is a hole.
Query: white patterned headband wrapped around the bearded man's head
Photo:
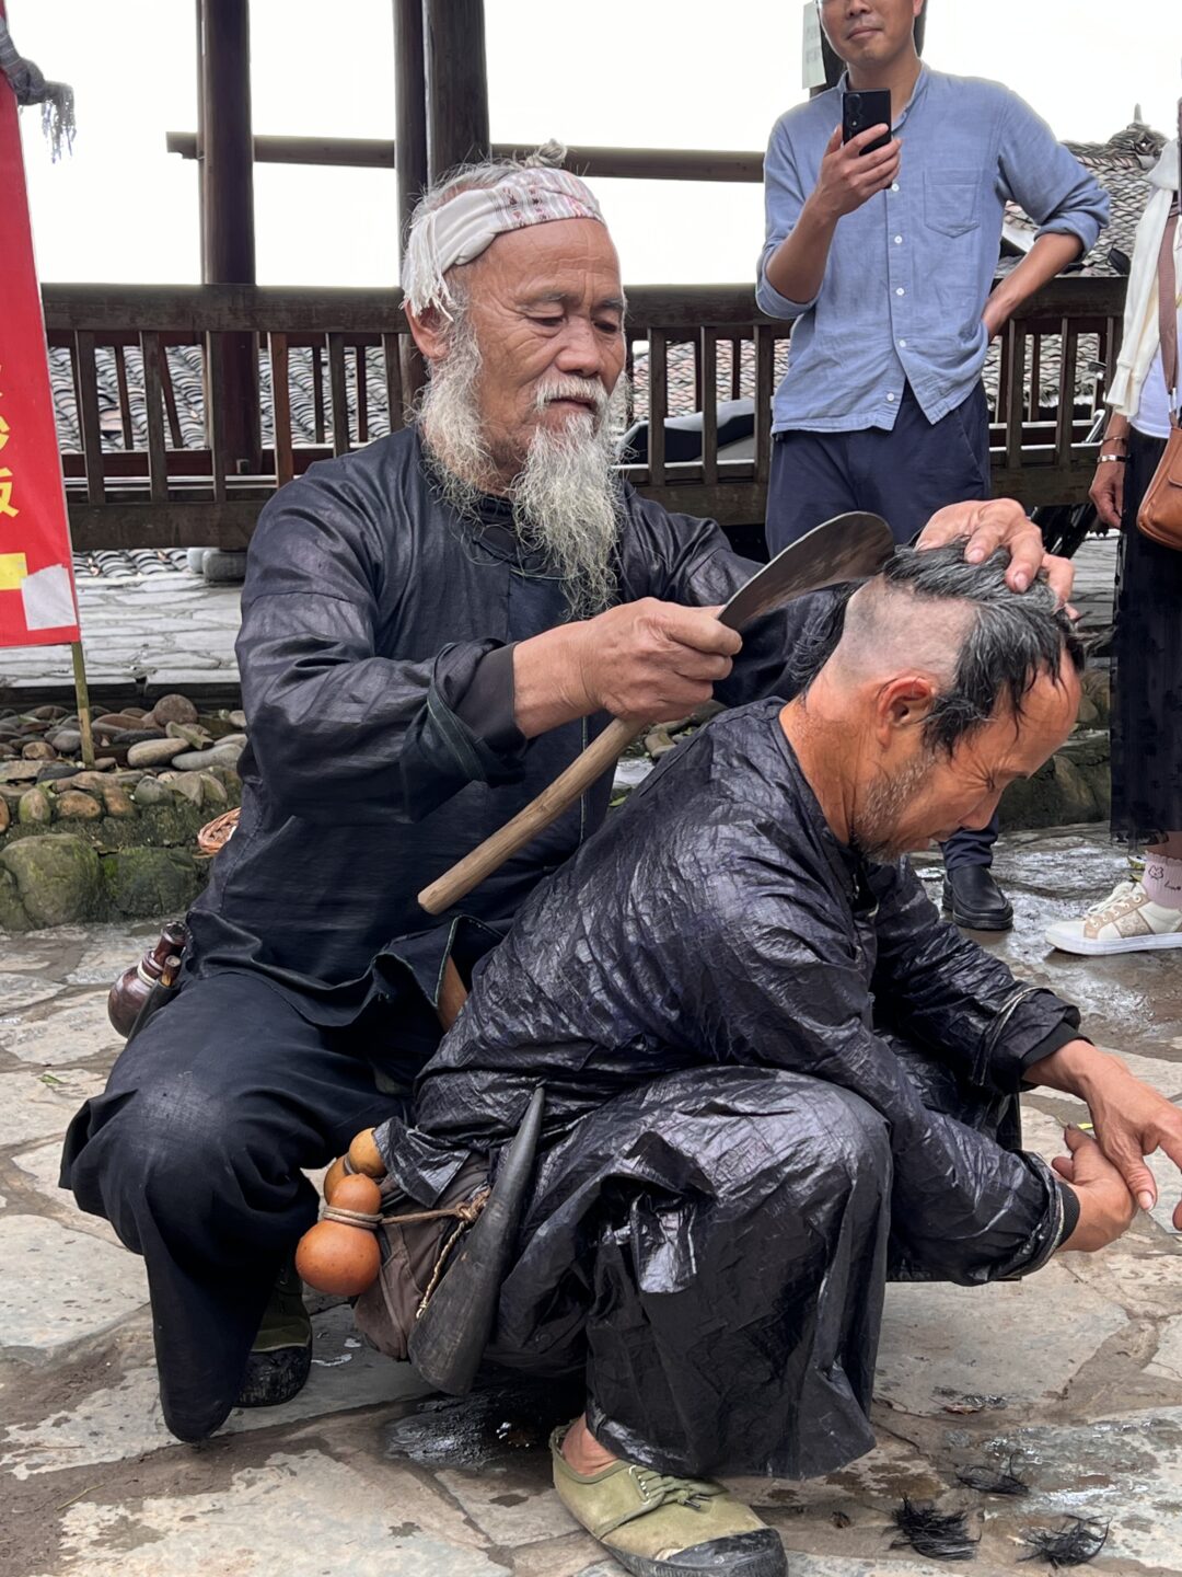
[[[495,186],[470,186],[422,214],[410,232],[402,293],[413,312],[438,308],[451,317],[455,300],[443,278],[479,257],[498,235],[553,219],[597,219],[599,203],[577,175],[552,166],[512,170]]]

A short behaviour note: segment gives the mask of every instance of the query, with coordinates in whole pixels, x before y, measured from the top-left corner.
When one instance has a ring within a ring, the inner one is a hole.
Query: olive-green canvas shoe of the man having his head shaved
[[[634,1577],[788,1577],[780,1536],[722,1484],[635,1462],[583,1476],[550,1435],[558,1498]]]

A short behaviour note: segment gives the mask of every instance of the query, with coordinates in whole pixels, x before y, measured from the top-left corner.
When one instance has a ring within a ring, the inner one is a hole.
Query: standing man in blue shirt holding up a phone
[[[796,320],[772,423],[774,552],[843,509],[875,509],[909,541],[941,505],[988,498],[990,339],[1108,219],[1103,189],[1017,95],[920,63],[922,6],[818,0],[846,71],[782,115],[768,145],[756,301]],[[846,88],[889,90],[892,126],[843,144]],[[994,289],[1009,197],[1040,230]],[[958,924],[1012,924],[990,869],[996,836],[994,815],[944,845]]]

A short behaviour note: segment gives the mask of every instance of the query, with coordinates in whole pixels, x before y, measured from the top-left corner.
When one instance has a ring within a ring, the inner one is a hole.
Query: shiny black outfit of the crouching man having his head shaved
[[[779,710],[716,719],[536,893],[378,1134],[435,1203],[545,1085],[493,1356],[586,1361],[599,1438],[660,1470],[832,1471],[873,1441],[887,1274],[985,1282],[1064,1232],[1017,1091],[1076,1011],[837,842]]]

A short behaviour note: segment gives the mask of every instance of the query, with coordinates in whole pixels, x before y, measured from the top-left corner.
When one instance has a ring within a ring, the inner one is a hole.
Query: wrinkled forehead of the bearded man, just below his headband
[[[470,306],[623,314],[626,304],[616,248],[596,219],[556,219],[498,235],[478,259],[454,268],[449,284]]]

